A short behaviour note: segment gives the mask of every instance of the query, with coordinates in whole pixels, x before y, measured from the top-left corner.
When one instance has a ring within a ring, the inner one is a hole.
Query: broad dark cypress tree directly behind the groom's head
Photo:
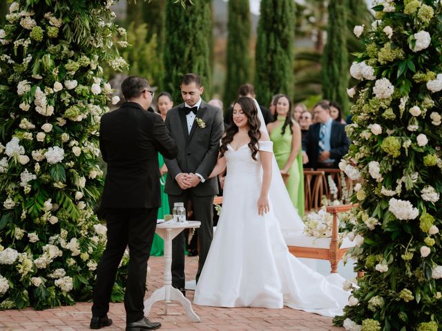
[[[194,6],[186,6],[186,9],[174,5],[174,0],[166,3],[163,86],[171,92],[175,102],[182,101],[180,84],[182,75],[187,72],[200,75],[205,99],[211,95],[210,1],[194,0],[193,3]]]

